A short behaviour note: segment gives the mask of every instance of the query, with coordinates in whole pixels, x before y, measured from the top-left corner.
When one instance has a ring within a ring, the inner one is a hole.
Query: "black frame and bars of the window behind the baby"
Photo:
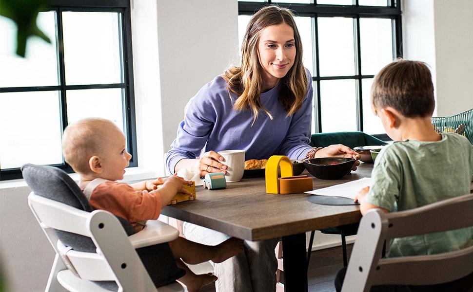
[[[66,91],[79,89],[109,89],[120,88],[123,93],[123,126],[124,134],[127,140],[127,150],[132,155],[130,167],[138,166],[137,155],[137,135],[136,135],[136,111],[135,111],[135,91],[133,79],[133,50],[131,37],[131,5],[130,0],[50,0],[48,7],[43,11],[55,11],[58,31],[57,38],[57,58],[59,85],[57,86],[33,86],[33,87],[3,87],[0,92],[37,92],[37,91],[59,91],[60,93],[60,118],[62,131],[67,126],[67,104]],[[115,84],[91,84],[91,85],[66,85],[65,84],[65,64],[64,64],[64,47],[62,32],[62,12],[118,12],[121,15],[121,48],[122,58],[121,66],[123,71],[123,82]],[[62,134],[61,131],[61,134]],[[68,173],[74,172],[69,164],[50,164]],[[0,181],[20,179],[22,178],[20,168],[10,168],[0,170]]]

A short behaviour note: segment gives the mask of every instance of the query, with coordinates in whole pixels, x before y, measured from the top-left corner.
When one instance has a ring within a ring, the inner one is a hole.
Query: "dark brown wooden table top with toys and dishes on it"
[[[364,164],[339,180],[313,179],[314,189],[371,176]],[[310,175],[307,171],[303,174]],[[309,194],[267,194],[264,178],[244,178],[226,189],[196,187],[197,200],[166,206],[162,214],[233,237],[262,240],[358,222],[359,207],[311,203]]]

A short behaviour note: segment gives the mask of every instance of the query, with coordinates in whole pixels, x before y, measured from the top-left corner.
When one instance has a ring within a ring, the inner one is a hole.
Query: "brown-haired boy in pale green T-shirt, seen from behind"
[[[386,133],[395,142],[384,147],[376,157],[371,188],[360,190],[355,198],[360,202],[362,215],[373,208],[384,212],[409,210],[470,193],[473,146],[456,133],[435,132],[434,85],[426,64],[407,60],[388,64],[374,78],[371,103]],[[387,256],[445,253],[472,245],[472,239],[472,227],[394,238]],[[340,271],[335,279],[337,291],[341,289],[343,277],[344,271]],[[448,287],[442,286],[445,291],[466,291]],[[392,288],[379,286],[372,291],[404,289]],[[439,287],[429,288],[443,291]]]

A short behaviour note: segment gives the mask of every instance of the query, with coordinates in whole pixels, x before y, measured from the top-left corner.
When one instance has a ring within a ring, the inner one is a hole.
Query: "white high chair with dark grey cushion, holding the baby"
[[[166,243],[175,228],[150,220],[133,226],[104,210],[92,210],[79,186],[62,170],[25,164],[23,178],[32,189],[28,204],[56,252],[47,292],[183,292]]]

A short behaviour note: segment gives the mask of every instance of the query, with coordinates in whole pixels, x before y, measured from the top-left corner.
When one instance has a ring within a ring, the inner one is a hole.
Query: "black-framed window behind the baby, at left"
[[[53,1],[37,24],[51,44],[30,37],[21,58],[16,26],[0,17],[0,180],[20,178],[25,163],[72,172],[62,131],[91,116],[123,130],[136,166],[129,0]]]

